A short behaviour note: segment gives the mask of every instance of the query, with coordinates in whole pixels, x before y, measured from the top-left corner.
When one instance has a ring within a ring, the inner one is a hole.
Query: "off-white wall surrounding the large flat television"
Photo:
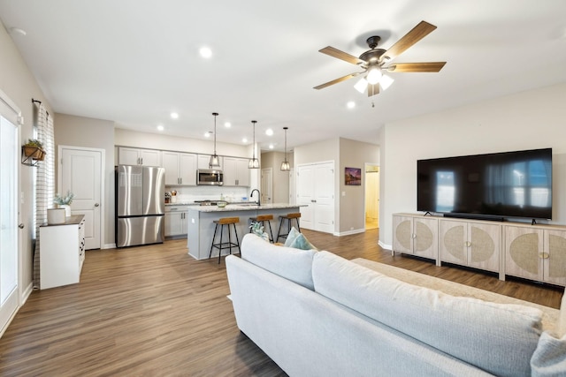
[[[381,131],[379,243],[392,215],[416,212],[417,160],[553,148],[553,223],[566,224],[566,84],[386,124]]]

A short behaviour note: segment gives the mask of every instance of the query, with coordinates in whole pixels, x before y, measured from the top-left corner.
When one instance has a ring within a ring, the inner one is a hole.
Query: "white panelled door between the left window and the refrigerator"
[[[85,216],[85,249],[100,249],[103,219],[103,149],[58,147],[57,192],[73,192],[73,215]]]

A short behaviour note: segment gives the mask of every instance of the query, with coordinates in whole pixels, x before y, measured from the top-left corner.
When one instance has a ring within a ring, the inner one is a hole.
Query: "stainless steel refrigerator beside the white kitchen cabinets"
[[[164,168],[116,167],[116,246],[163,243]]]

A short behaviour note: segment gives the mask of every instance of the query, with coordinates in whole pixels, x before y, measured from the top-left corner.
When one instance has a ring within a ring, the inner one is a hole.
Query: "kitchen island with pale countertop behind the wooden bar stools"
[[[255,203],[246,204],[228,204],[226,207],[217,206],[191,206],[188,207],[187,216],[187,247],[188,254],[197,260],[205,260],[209,258],[210,245],[212,244],[212,236],[214,236],[214,220],[218,220],[221,217],[240,217],[240,222],[236,224],[236,230],[238,231],[238,239],[241,243],[241,238],[244,237],[246,233],[249,233],[249,218],[256,217],[257,215],[273,215],[272,220],[272,230],[273,238],[277,237],[277,231],[279,230],[279,215],[287,215],[291,213],[300,212],[299,207],[304,207],[304,205],[287,204],[287,203],[275,203],[275,204],[262,204],[257,206]],[[286,224],[283,225],[285,227]],[[219,227],[218,227],[219,228]],[[269,233],[269,225],[265,223],[264,231]],[[233,238],[233,230],[232,239]],[[281,229],[282,232],[287,233],[287,228],[285,230]],[[219,230],[218,230],[219,232]],[[223,242],[227,241],[227,233],[225,230],[225,236],[223,236]],[[218,238],[218,235],[217,235]],[[230,253],[228,249],[223,249],[222,254],[226,255]],[[232,253],[240,253],[238,248],[233,248]],[[212,251],[212,257],[218,257],[218,249]]]

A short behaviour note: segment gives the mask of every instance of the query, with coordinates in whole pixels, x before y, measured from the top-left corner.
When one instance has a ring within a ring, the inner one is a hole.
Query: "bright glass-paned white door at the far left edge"
[[[0,336],[19,307],[18,117],[0,92]]]

